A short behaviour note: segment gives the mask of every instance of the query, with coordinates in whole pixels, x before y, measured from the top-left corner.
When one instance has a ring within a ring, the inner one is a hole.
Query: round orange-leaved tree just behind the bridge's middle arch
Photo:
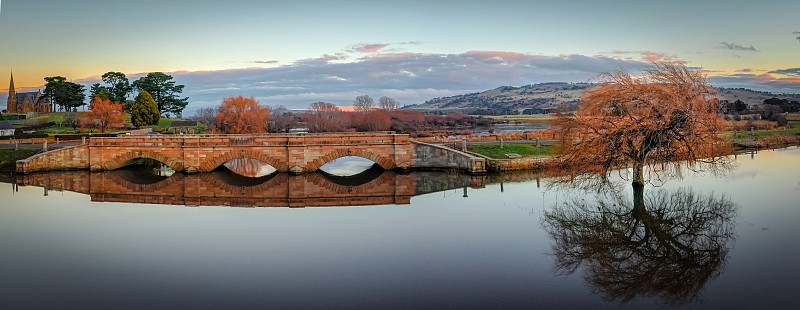
[[[217,110],[214,122],[222,133],[265,133],[269,109],[262,107],[254,97],[225,97]]]

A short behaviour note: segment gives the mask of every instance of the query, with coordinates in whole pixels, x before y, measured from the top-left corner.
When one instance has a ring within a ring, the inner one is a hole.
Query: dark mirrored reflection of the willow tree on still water
[[[734,242],[738,207],[725,196],[691,189],[620,193],[569,200],[544,212],[556,269],[583,266],[594,293],[626,303],[637,296],[676,305],[696,301],[721,274]]]

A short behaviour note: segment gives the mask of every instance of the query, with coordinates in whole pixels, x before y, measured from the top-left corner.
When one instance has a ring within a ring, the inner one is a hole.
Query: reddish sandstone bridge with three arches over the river
[[[483,158],[413,141],[393,132],[144,135],[91,138],[88,143],[17,161],[17,172],[114,170],[137,158],[160,161],[175,171],[210,172],[229,160],[257,159],[280,172],[302,174],[344,156],[359,156],[387,170],[456,169],[486,172]]]

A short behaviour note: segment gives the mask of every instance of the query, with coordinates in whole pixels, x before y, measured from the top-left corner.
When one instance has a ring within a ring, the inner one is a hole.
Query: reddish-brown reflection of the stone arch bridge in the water
[[[273,173],[245,177],[227,169],[212,173],[159,176],[146,169],[61,171],[17,175],[21,186],[84,193],[97,202],[187,206],[316,207],[409,204],[426,193],[483,188],[487,183],[538,178],[533,173],[475,176],[448,172],[399,174],[374,167],[349,177],[324,172],[304,175]]]

